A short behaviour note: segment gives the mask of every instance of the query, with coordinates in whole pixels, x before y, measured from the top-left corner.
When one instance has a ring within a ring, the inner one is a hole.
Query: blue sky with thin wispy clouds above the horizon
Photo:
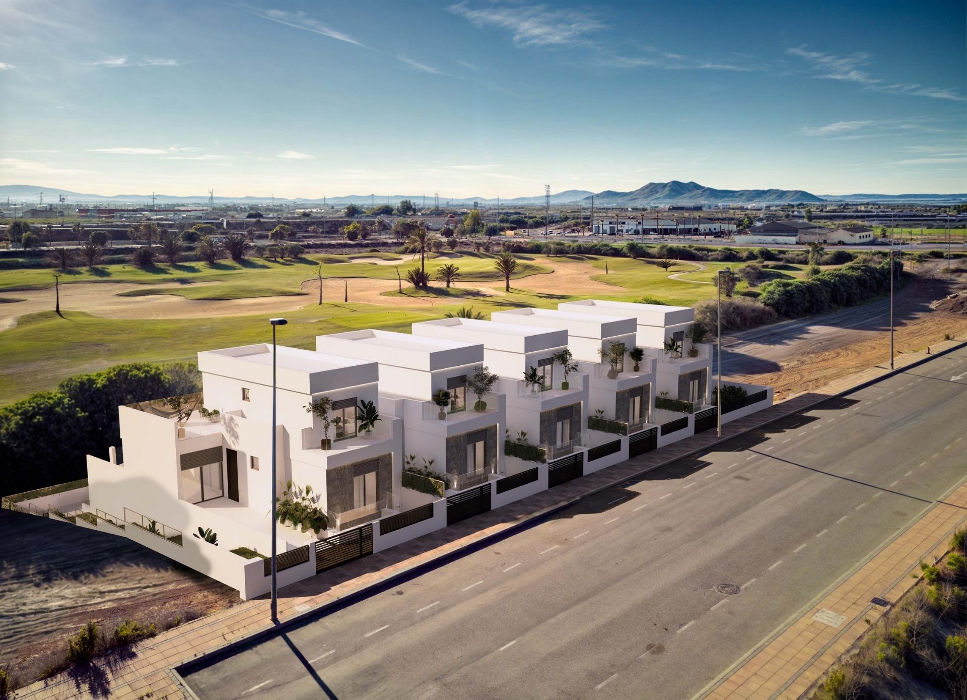
[[[0,184],[967,191],[959,2],[0,0]]]

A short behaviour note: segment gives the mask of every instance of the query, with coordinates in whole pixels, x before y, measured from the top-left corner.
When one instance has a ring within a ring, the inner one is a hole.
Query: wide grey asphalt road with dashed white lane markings
[[[689,698],[964,477],[965,414],[957,350],[589,497],[188,683],[205,700]]]

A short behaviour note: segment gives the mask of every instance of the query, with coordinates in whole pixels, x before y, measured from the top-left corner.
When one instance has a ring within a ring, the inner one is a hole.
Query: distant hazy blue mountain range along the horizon
[[[64,197],[71,202],[83,203],[126,203],[143,204],[152,200],[151,195],[92,195],[72,192],[70,190],[60,190],[57,188],[44,188],[39,185],[0,185],[0,198],[11,198],[16,202],[36,202],[38,193],[44,193],[47,201]],[[818,197],[805,190],[777,190],[774,188],[765,190],[718,190],[714,187],[705,187],[697,182],[681,182],[672,180],[671,182],[649,182],[647,185],[639,187],[630,192],[616,192],[614,190],[604,190],[603,192],[588,192],[586,190],[566,190],[551,195],[551,204],[581,204],[590,206],[592,197],[595,206],[601,207],[625,207],[625,206],[651,206],[656,204],[755,204],[769,203],[780,204],[785,202],[821,202],[821,201],[890,201],[890,202],[951,202],[965,201],[967,195],[824,195]],[[370,204],[392,204],[396,205],[402,199],[411,199],[417,205],[424,202],[423,195],[346,195],[343,197],[327,197],[325,201],[330,204],[358,204],[368,206]],[[267,204],[275,201],[277,204],[304,204],[321,203],[323,198],[271,198],[271,197],[215,197],[212,199],[216,203],[245,203],[245,204]],[[155,202],[160,204],[191,204],[205,203],[208,201],[207,195],[156,195]],[[497,204],[496,198],[483,197],[464,197],[464,198],[440,198],[440,203],[450,202],[452,204],[472,204],[479,202],[486,205]],[[501,199],[500,205],[513,207],[514,205],[542,205],[544,198],[538,197],[518,197],[512,199]]]

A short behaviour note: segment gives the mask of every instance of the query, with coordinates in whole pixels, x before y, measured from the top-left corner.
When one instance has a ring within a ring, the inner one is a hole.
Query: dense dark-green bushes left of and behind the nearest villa
[[[117,365],[0,409],[0,480],[18,493],[86,475],[85,455],[120,447],[118,406],[198,390],[194,365]]]

